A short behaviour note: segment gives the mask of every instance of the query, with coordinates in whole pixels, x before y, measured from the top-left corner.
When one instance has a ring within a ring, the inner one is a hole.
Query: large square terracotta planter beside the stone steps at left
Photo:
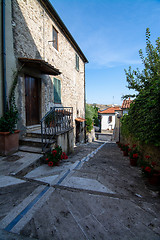
[[[14,133],[0,132],[0,155],[6,156],[19,148],[19,130]]]

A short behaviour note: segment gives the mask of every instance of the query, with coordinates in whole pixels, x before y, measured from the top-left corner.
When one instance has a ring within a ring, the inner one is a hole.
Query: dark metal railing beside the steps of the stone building
[[[42,152],[49,148],[56,134],[73,127],[73,108],[54,107],[41,119]]]

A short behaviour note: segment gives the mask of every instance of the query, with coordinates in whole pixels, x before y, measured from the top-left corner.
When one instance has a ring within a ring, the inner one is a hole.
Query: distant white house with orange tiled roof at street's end
[[[120,107],[110,107],[99,111],[101,116],[101,131],[113,130],[115,127],[115,116],[121,112]]]

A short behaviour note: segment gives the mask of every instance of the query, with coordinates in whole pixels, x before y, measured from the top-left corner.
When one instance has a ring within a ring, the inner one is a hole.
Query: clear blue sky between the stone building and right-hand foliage
[[[124,69],[142,68],[145,32],[160,37],[160,0],[50,0],[84,52],[87,103],[121,104]]]

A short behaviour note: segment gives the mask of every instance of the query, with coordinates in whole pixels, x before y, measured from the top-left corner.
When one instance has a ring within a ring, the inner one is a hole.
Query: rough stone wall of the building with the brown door
[[[61,106],[73,107],[73,120],[76,117],[85,118],[85,63],[79,57],[79,71],[76,70],[76,50],[64,35],[57,22],[41,5],[39,0],[12,0],[13,39],[15,57],[43,59],[61,74],[56,76],[61,80]],[[58,51],[53,47],[52,29],[58,31]],[[17,93],[24,95],[24,76],[33,76],[30,70],[23,69],[20,77],[20,87]],[[37,73],[36,76],[40,76]],[[50,107],[54,106],[53,78],[54,76],[41,75],[41,117]],[[23,96],[19,106],[22,125],[25,125],[25,99]],[[75,126],[75,121],[73,121]]]

